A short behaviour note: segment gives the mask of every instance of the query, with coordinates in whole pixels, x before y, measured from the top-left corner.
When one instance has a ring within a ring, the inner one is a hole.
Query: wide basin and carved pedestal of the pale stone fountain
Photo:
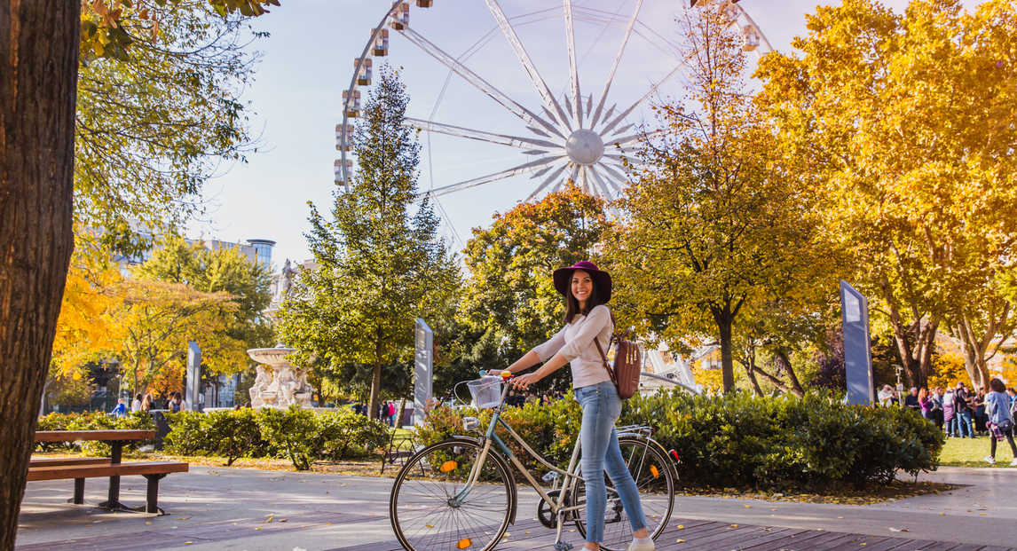
[[[257,376],[250,388],[252,408],[311,407],[314,389],[307,383],[307,370],[291,365],[286,359],[294,352],[296,349],[282,345],[247,351],[252,360],[263,364],[257,366]]]

